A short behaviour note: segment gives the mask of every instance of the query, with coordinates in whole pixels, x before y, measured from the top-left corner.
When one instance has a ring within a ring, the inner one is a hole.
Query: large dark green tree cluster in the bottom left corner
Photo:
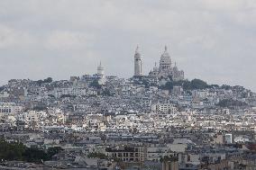
[[[48,148],[46,151],[39,148],[27,148],[23,143],[9,143],[5,139],[0,139],[0,160],[41,163],[41,161],[50,160],[61,150],[63,149],[59,147]]]

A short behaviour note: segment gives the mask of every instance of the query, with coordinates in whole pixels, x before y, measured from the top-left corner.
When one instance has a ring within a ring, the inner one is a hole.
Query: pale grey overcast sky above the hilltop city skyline
[[[188,79],[256,92],[255,0],[0,0],[0,85],[11,78],[147,75],[167,45]]]

